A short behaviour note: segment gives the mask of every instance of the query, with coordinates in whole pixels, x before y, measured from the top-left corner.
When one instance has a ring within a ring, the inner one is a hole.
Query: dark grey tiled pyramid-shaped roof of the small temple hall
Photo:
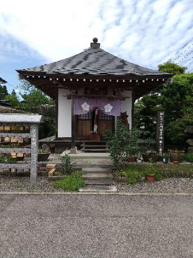
[[[170,75],[130,63],[101,48],[88,48],[79,54],[54,63],[17,71],[92,75]]]

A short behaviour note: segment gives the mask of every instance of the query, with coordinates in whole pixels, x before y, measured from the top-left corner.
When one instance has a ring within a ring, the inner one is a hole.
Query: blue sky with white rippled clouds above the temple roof
[[[19,83],[15,69],[77,54],[93,37],[135,64],[157,69],[172,58],[193,72],[192,14],[192,0],[3,1],[0,77],[11,93]]]

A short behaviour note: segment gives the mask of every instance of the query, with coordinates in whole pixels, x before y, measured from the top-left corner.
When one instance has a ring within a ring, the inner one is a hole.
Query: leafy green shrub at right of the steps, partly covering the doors
[[[117,168],[119,168],[120,160],[122,157],[134,158],[142,152],[144,147],[140,143],[140,137],[145,134],[144,131],[132,128],[128,130],[119,119],[115,128],[115,132],[111,133],[106,130],[104,138],[107,140],[110,147],[110,156],[112,162]],[[152,143],[151,139],[146,139],[146,143]]]

